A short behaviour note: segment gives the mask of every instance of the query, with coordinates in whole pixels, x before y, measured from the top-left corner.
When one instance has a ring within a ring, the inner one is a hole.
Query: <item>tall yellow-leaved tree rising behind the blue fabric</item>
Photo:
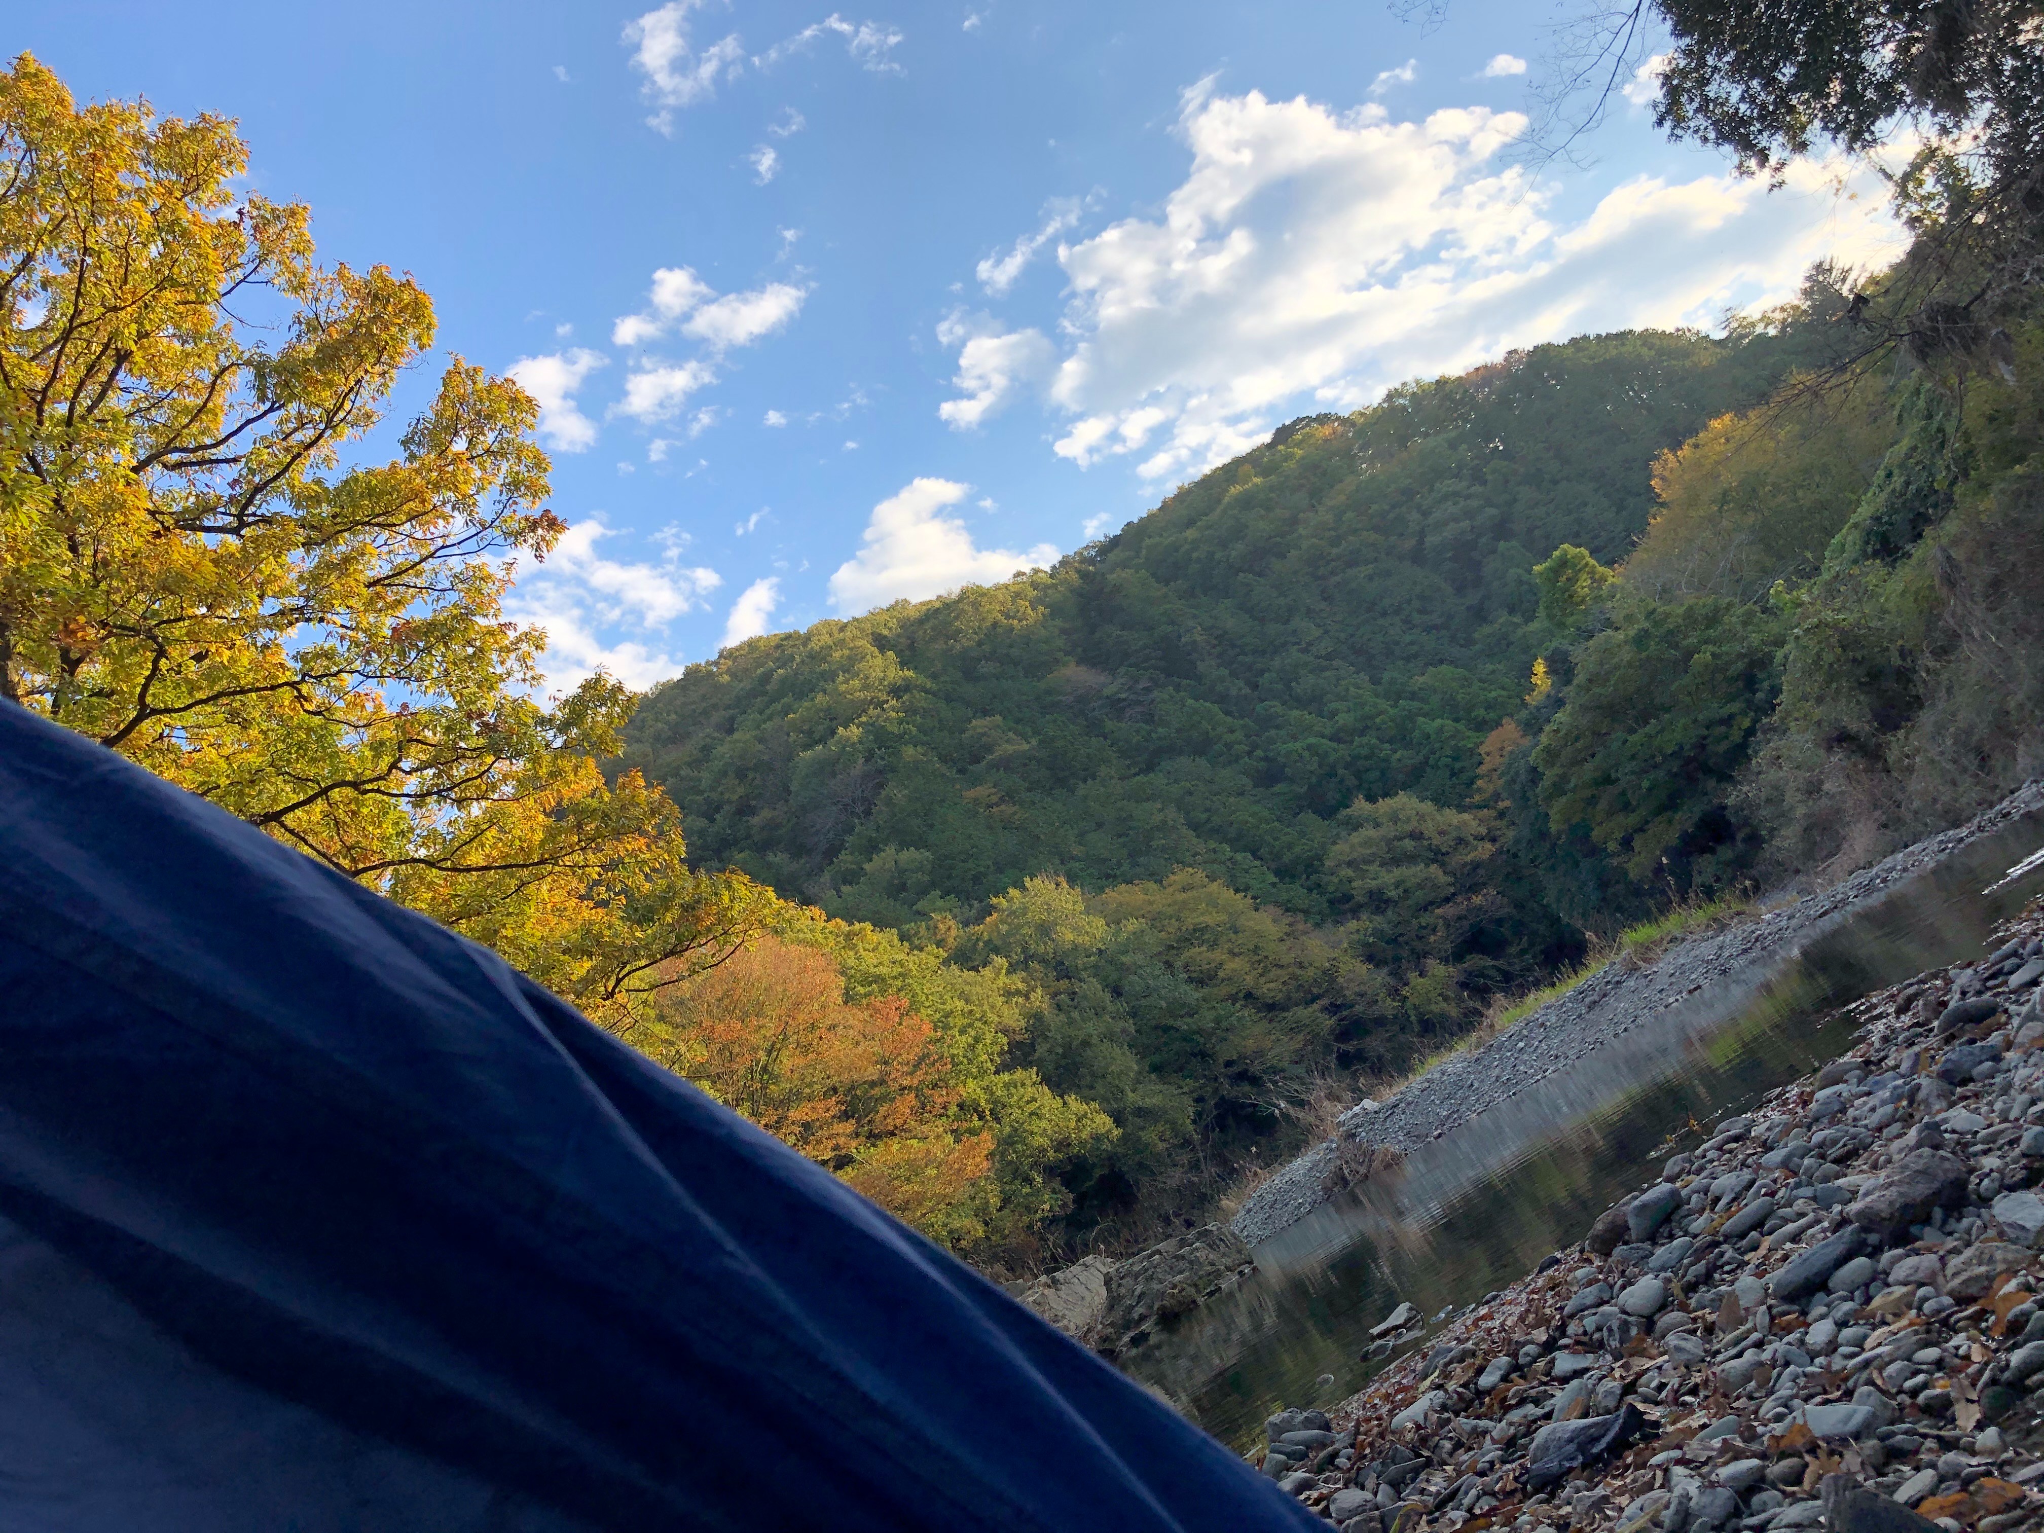
[[[217,117],[0,74],[0,695],[464,930],[617,1022],[773,899],[605,783],[632,695],[533,701],[505,621],[562,533],[533,401],[454,358],[372,452],[433,305],[237,194]]]

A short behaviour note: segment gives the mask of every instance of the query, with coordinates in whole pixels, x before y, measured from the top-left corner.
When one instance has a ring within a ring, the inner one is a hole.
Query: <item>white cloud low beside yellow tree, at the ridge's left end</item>
[[[715,570],[681,562],[685,540],[668,540],[658,564],[640,564],[603,558],[597,540],[609,536],[597,519],[574,523],[544,564],[519,572],[505,601],[507,615],[546,630],[542,666],[558,689],[595,670],[609,670],[628,687],[679,675],[679,658],[632,634],[650,636],[705,607],[705,595],[724,585]]]

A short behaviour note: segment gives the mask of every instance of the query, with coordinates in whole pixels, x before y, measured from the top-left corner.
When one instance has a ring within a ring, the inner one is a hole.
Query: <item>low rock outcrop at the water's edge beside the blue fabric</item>
[[[1204,1224],[1126,1261],[1085,1257],[1018,1288],[1016,1298],[1067,1337],[1104,1357],[1120,1357],[1253,1269],[1255,1259],[1241,1237],[1222,1224]]]

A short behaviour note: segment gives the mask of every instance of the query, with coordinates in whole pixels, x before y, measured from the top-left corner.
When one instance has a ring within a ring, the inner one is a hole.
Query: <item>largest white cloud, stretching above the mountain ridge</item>
[[[1838,168],[1815,164],[1774,194],[1731,174],[1635,178],[1562,227],[1527,172],[1500,164],[1523,127],[1482,106],[1394,123],[1374,104],[1190,90],[1192,170],[1163,213],[1059,249],[1073,300],[1051,384],[1071,417],[1057,452],[1198,472],[1259,442],[1280,407],[1355,409],[1404,378],[1584,331],[1713,325],[1793,294],[1821,256],[1899,251],[1872,174],[1840,196]],[[975,374],[959,423],[1000,403],[1002,376]]]

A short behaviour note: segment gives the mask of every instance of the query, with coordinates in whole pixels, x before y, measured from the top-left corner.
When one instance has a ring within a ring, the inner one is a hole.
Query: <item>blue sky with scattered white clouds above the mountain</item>
[[[1570,14],[74,0],[8,49],[239,119],[325,260],[515,372],[572,531],[513,611],[556,683],[650,685],[1055,558],[1294,415],[1893,247],[1864,178],[1768,194],[1633,102],[1529,176]]]

